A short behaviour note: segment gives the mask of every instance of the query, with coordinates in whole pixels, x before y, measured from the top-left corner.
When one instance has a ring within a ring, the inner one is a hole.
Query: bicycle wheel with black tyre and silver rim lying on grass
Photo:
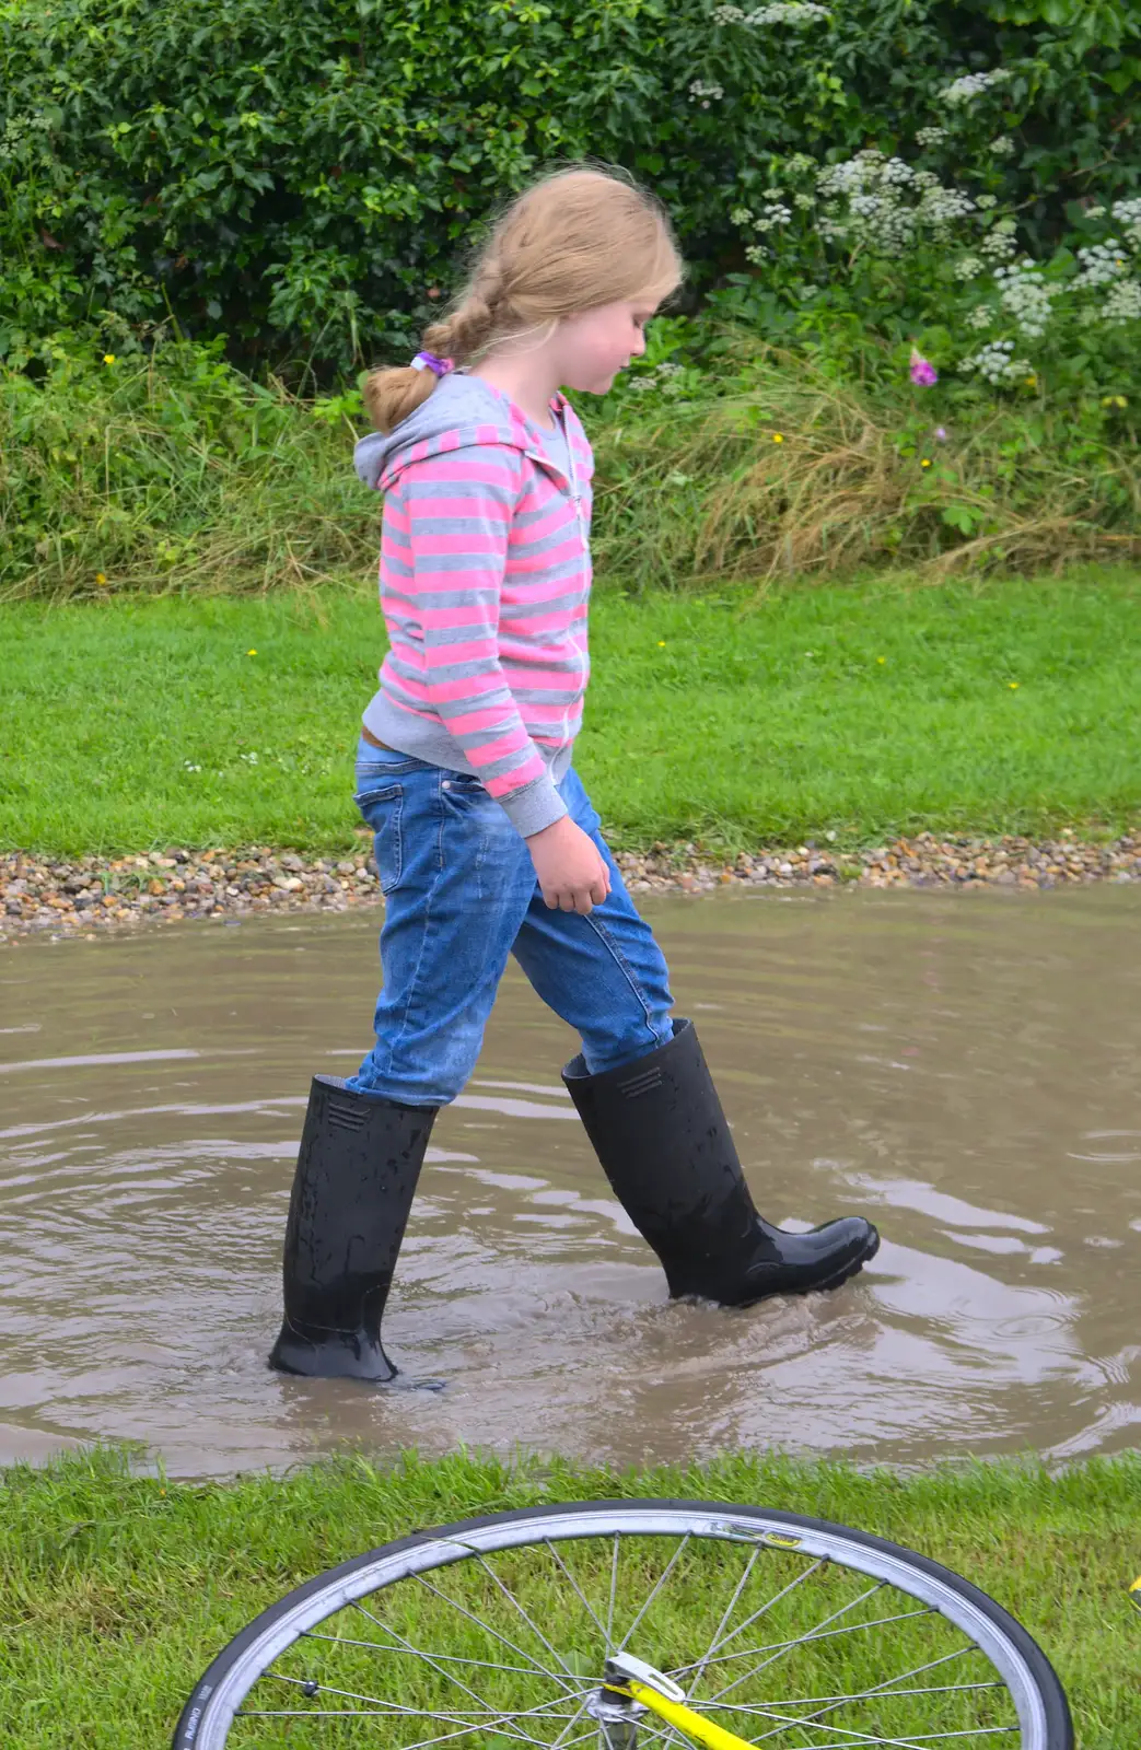
[[[173,1746],[579,1750],[618,1652],[766,1750],[1073,1750],[1045,1654],[968,1580],[821,1519],[668,1500],[490,1514],[341,1563],[219,1654]],[[646,1715],[623,1750],[691,1746]]]

